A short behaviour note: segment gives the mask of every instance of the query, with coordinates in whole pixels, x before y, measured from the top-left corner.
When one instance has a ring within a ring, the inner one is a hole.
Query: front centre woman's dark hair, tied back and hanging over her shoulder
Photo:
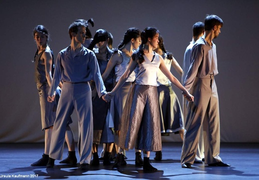
[[[143,47],[144,45],[148,42],[148,38],[154,38],[154,36],[159,33],[159,30],[156,29],[155,27],[146,27],[140,34],[141,36],[141,44],[135,52],[132,54],[132,59],[136,60],[139,59],[139,63],[142,63],[144,61],[144,51]]]

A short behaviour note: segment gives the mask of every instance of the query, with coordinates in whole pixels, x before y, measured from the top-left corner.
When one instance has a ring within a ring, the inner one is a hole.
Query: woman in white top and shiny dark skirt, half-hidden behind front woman
[[[159,36],[158,47],[154,49],[164,58],[166,67],[170,70],[171,66],[182,76],[183,69],[178,64],[172,53],[168,52],[164,46],[164,40]],[[168,77],[159,69],[157,73],[157,82],[159,86],[159,112],[161,135],[167,136],[169,133],[179,133],[181,139],[184,138],[184,118],[179,100],[172,88],[172,84]],[[162,151],[157,151],[155,160],[162,160]]]

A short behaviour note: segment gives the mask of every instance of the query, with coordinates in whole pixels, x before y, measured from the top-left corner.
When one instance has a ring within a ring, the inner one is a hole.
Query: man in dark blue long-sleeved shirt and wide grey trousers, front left
[[[91,160],[93,139],[89,81],[94,79],[99,97],[105,101],[109,101],[110,98],[106,95],[95,54],[82,45],[86,36],[85,24],[80,21],[71,23],[68,33],[71,44],[58,53],[53,80],[48,91],[48,101],[52,102],[58,83],[60,80],[64,82],[53,126],[47,167],[53,167],[54,160],[62,158],[67,118],[75,110],[79,123],[80,169],[87,170]]]

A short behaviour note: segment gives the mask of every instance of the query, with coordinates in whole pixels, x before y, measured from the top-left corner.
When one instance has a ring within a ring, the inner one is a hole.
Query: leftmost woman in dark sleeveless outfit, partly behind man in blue
[[[33,37],[37,45],[37,51],[34,56],[35,82],[39,93],[42,130],[45,130],[45,149],[42,158],[33,162],[31,165],[45,166],[48,162],[50,140],[59,96],[55,99],[55,103],[47,101],[47,93],[52,82],[55,66],[53,51],[48,45],[49,32],[44,25],[37,25],[33,30]],[[60,93],[59,87],[57,88],[57,91]],[[69,124],[72,122],[72,119],[71,117],[68,118]],[[65,139],[68,145],[68,157],[61,163],[76,164],[77,159],[75,155],[74,134],[68,124],[65,133]]]

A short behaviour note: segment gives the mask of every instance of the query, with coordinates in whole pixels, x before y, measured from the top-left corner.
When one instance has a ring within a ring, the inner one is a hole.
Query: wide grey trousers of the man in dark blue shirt
[[[62,159],[67,120],[75,110],[78,117],[80,164],[90,163],[93,143],[92,97],[89,83],[64,82],[53,125],[49,157]]]

